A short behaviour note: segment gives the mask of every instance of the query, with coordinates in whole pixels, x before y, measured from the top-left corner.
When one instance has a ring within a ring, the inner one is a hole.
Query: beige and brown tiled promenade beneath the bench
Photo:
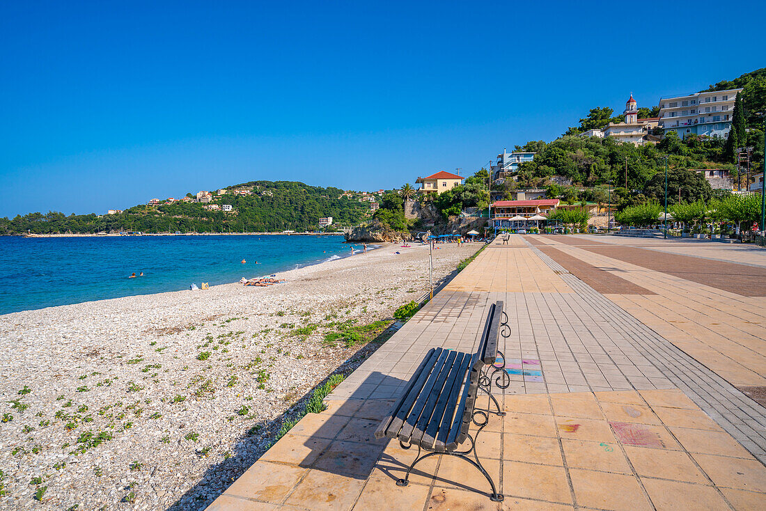
[[[758,249],[496,241],[210,509],[766,509],[766,409],[743,393],[766,387],[764,282]],[[428,349],[475,350],[495,300],[520,369],[476,450],[506,499],[453,457],[396,486],[414,453],[372,432]]]

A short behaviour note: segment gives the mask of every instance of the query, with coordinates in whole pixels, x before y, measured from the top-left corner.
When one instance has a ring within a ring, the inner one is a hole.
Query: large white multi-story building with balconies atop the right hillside
[[[732,129],[734,100],[741,89],[698,92],[688,96],[660,98],[660,126],[665,133],[728,136]]]

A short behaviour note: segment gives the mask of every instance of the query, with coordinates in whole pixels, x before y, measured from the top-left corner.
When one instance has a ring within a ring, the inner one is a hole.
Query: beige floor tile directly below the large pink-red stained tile
[[[624,446],[627,457],[640,476],[660,477],[687,483],[709,484],[705,475],[683,450]]]

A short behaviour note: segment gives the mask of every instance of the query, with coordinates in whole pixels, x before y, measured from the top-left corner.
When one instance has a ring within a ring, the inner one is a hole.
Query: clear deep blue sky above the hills
[[[762,2],[3,2],[0,216],[377,189],[766,66]],[[736,46],[735,46],[736,44]]]

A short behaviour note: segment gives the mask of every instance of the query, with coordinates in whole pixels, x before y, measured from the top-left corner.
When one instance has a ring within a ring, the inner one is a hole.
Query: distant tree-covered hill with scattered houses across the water
[[[248,190],[250,195],[234,195],[234,189]],[[136,205],[116,215],[67,216],[49,211],[10,220],[0,218],[0,234],[306,231],[318,228],[321,217],[332,217],[335,224],[352,225],[370,215],[369,202],[346,197],[340,188],[254,181],[226,190],[225,195],[214,194],[210,204],[231,205],[233,211],[207,211],[204,204],[182,201]]]

